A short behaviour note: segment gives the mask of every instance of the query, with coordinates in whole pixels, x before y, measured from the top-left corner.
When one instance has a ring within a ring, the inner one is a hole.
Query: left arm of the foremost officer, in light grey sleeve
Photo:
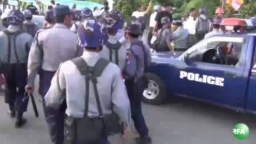
[[[50,89],[48,90],[45,100],[46,106],[52,107],[56,110],[62,105],[65,99],[66,79],[62,67],[59,66],[58,71],[54,74],[51,80]]]

